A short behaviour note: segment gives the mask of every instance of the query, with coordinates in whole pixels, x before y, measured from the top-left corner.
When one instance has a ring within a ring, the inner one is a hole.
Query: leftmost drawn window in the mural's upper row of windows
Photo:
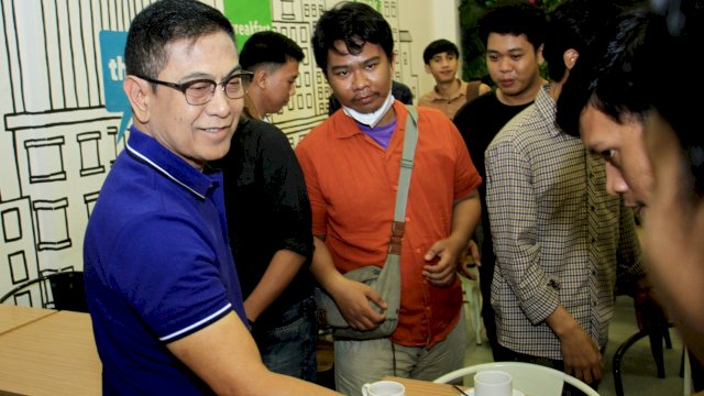
[[[63,145],[64,136],[28,140],[24,142],[30,183],[66,180]]]

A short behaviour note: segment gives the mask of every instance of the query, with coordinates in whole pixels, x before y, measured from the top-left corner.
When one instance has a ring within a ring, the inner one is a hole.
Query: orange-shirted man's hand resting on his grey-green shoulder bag
[[[340,314],[355,330],[372,330],[377,328],[386,319],[386,301],[372,287],[355,280],[341,277],[336,287],[334,302],[340,308]],[[383,314],[377,312],[370,305],[374,302]]]

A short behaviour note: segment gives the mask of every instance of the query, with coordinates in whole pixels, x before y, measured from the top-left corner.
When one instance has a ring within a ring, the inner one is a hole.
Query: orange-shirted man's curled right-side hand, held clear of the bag
[[[428,264],[422,267],[422,276],[435,286],[450,286],[457,276],[458,266],[462,266],[463,252],[464,243],[458,244],[449,238],[433,243],[426,252]]]

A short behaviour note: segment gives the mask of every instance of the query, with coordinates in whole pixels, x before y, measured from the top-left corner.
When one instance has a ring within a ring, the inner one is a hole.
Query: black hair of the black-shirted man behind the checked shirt
[[[486,46],[491,33],[525,34],[534,50],[538,51],[546,37],[544,11],[525,0],[503,0],[486,10],[477,21],[477,31]]]

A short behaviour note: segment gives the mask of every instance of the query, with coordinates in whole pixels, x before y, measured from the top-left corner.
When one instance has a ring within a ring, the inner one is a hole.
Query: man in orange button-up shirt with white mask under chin
[[[371,287],[341,274],[386,257],[407,109],[391,96],[393,36],[369,6],[344,3],[323,13],[312,47],[343,111],[297,146],[317,237],[312,271],[351,327],[369,330],[385,316]],[[402,306],[391,339],[336,340],[336,385],[398,375],[433,380],[464,362],[466,329],[458,263],[480,218],[481,184],[450,119],[418,109],[416,148],[400,253]]]

